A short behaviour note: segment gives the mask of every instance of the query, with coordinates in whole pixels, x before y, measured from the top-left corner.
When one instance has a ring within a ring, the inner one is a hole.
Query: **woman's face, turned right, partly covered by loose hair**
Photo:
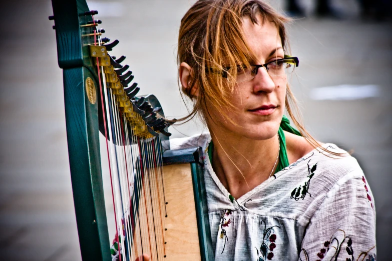
[[[246,41],[258,59],[256,64],[283,58],[281,39],[272,22],[253,24],[247,17],[242,20]],[[264,67],[259,68],[253,79],[236,85],[231,96],[235,111],[224,111],[237,125],[227,121],[213,106],[208,106],[211,118],[207,116],[206,120],[210,130],[256,140],[273,137],[283,116],[286,85],[286,75],[271,77]]]

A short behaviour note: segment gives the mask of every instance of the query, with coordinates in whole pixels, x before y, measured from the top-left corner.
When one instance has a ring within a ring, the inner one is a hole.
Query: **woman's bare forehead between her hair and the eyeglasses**
[[[249,17],[242,18],[242,29],[244,32],[245,40],[250,49],[261,58],[269,55],[272,50],[277,47],[282,47],[282,41],[279,36],[277,26],[269,21],[264,20],[260,15],[257,17],[258,24],[252,23]]]

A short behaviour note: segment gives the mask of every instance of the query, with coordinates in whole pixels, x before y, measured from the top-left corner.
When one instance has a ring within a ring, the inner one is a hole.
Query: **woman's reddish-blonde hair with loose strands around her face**
[[[263,24],[266,20],[275,24],[284,53],[289,51],[284,24],[289,22],[290,18],[278,13],[264,1],[198,0],[181,19],[177,53],[178,65],[184,61],[192,67],[190,81],[186,88],[182,87],[182,92],[193,100],[194,106],[187,116],[175,121],[186,122],[199,111],[205,119],[208,113],[207,103],[218,111],[222,111],[222,108],[234,109],[230,96],[236,84],[236,70],[230,73],[226,67],[228,64],[249,66],[257,60],[245,41],[242,17],[249,17],[257,24]],[[261,20],[258,20],[258,17],[261,17]],[[222,77],[223,72],[227,74],[227,78]],[[193,95],[196,86],[197,95]],[[319,142],[301,123],[299,109],[288,84],[285,107],[301,135],[314,147],[319,147]],[[231,121],[230,118],[227,119]]]

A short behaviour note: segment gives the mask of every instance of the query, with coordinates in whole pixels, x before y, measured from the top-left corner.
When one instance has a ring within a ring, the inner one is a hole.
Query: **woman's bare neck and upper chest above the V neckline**
[[[264,140],[222,134],[210,128],[214,150],[212,167],[226,189],[239,198],[266,180],[276,168],[277,133]]]

